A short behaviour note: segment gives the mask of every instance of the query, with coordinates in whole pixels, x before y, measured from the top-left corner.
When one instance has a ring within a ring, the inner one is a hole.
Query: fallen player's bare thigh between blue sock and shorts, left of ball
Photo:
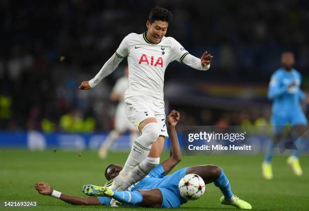
[[[163,196],[159,189],[139,190],[139,193],[143,196],[143,200],[140,203],[141,206],[161,207]]]

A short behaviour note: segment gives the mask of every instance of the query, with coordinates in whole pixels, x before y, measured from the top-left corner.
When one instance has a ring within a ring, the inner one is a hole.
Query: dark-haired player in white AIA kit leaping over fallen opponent
[[[113,181],[112,189],[127,189],[160,163],[164,140],[168,137],[163,100],[164,73],[168,64],[178,61],[197,70],[210,68],[213,56],[207,51],[198,59],[173,37],[165,37],[171,20],[170,11],[153,8],[146,22],[147,32],[128,34],[98,74],[79,86],[79,89],[93,88],[127,57],[126,115],[141,135],[134,141],[123,170]]]

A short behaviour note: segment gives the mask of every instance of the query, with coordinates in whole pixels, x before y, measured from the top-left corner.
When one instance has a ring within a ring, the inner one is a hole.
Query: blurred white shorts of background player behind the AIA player
[[[126,117],[125,105],[123,101],[118,104],[116,109],[115,129],[121,133],[124,133],[127,130],[136,131],[135,126]]]

